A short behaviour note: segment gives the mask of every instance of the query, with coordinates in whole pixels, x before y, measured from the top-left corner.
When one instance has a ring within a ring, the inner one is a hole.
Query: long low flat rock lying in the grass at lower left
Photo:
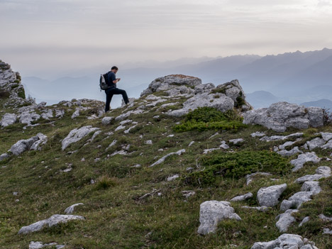
[[[29,226],[23,226],[19,231],[18,234],[27,234],[27,233],[33,233],[40,231],[44,227],[52,227],[59,223],[67,223],[71,220],[83,220],[84,217],[82,216],[74,216],[74,215],[60,215],[55,214],[53,216],[50,216],[50,218],[47,218],[43,221],[35,222]]]

